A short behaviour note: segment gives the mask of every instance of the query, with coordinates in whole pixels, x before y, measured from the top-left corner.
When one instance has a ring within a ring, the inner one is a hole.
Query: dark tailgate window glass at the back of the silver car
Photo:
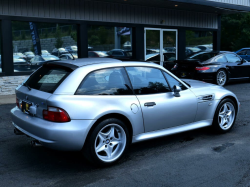
[[[42,66],[30,76],[26,84],[33,89],[53,93],[72,70],[55,67]]]

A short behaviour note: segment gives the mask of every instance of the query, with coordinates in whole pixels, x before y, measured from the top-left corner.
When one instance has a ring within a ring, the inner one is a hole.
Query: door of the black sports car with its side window
[[[233,53],[225,54],[225,57],[228,61],[226,67],[228,68],[231,79],[249,77],[249,63],[241,63],[241,58]]]

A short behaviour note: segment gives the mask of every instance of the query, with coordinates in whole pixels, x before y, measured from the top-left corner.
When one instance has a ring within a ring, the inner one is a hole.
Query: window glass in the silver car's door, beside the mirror
[[[127,67],[135,94],[171,92],[161,70],[148,67]]]

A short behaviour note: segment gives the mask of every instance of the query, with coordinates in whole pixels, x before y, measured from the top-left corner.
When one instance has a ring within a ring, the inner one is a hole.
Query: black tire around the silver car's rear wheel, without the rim
[[[121,126],[123,128],[124,132],[126,133],[126,146],[125,146],[123,153],[121,154],[121,156],[119,158],[117,158],[116,160],[114,160],[112,162],[104,162],[104,161],[100,160],[98,158],[98,156],[96,155],[95,140],[96,140],[96,136],[100,132],[100,130],[109,124],[118,124],[119,126]],[[105,119],[105,120],[101,121],[100,123],[98,123],[97,126],[93,129],[90,136],[86,140],[86,143],[85,143],[85,146],[83,149],[83,151],[84,151],[83,154],[86,155],[86,158],[95,165],[109,166],[109,165],[112,165],[112,164],[118,162],[124,156],[124,153],[127,151],[128,147],[129,147],[130,139],[131,138],[130,138],[128,128],[123,121],[116,119],[116,118],[108,118],[108,119]]]

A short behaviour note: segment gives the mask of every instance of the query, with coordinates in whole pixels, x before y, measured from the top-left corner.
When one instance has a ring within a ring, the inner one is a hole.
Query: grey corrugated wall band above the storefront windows
[[[93,0],[0,0],[0,15],[218,28],[217,15],[212,13]]]

